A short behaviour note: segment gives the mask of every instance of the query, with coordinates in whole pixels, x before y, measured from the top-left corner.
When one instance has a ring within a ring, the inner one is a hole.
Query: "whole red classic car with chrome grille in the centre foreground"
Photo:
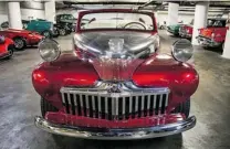
[[[88,23],[80,25],[83,19]],[[45,39],[43,63],[32,72],[41,96],[35,126],[88,139],[144,139],[180,134],[196,125],[190,96],[199,77],[187,61],[188,40],[159,54],[153,12],[129,9],[79,13],[74,50],[62,53]]]

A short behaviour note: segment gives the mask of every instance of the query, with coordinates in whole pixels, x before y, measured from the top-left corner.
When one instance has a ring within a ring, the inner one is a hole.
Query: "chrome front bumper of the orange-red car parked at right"
[[[216,42],[212,39],[205,38],[205,36],[197,36],[198,43],[201,44],[202,46],[208,46],[208,47],[218,47],[221,45],[220,42]]]

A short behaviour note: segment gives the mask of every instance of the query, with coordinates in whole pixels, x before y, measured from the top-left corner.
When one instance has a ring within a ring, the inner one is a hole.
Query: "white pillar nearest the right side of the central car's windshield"
[[[169,2],[167,25],[174,25],[178,23],[178,13],[179,13],[179,4],[175,2]]]

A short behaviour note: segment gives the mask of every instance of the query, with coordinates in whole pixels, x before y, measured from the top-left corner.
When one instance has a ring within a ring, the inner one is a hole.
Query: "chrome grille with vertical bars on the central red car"
[[[168,94],[170,93],[170,91],[167,87],[140,88],[140,87],[137,87],[132,82],[121,82],[121,83],[97,82],[95,84],[95,87],[85,87],[85,88],[62,87],[60,92],[62,94],[62,98],[63,97],[65,98],[66,94],[67,94],[69,100],[74,99],[74,98],[72,98],[72,95],[80,96],[81,110],[86,108],[90,110],[90,113],[95,113],[95,108],[96,108],[95,106],[97,104],[100,118],[103,118],[103,119],[108,118],[108,109],[111,110],[111,108],[112,108],[112,114],[109,114],[109,115],[112,115],[112,119],[109,118],[109,120],[114,120],[115,118],[117,118],[117,116],[119,118],[122,118],[122,117],[124,118],[124,117],[126,117],[126,115],[130,116],[130,115],[136,115],[137,113],[138,113],[138,116],[143,117],[143,116],[145,116],[144,110],[148,111],[149,109],[151,109],[155,111],[156,108],[158,108],[159,111],[163,113],[160,110],[160,108],[164,108],[163,106],[168,105],[168,103],[161,105],[163,104],[163,95],[164,95],[164,100],[168,102],[168,99],[165,99],[165,95],[167,95],[166,97],[168,97]],[[71,95],[71,97],[70,97],[70,95]],[[83,99],[83,96],[84,96],[84,99]],[[93,104],[91,109],[90,109],[90,96],[91,96],[91,103]],[[146,96],[147,96],[147,100],[145,99]],[[160,96],[160,99],[157,98],[157,96]],[[96,97],[97,97],[97,103],[95,100]],[[126,105],[127,97],[129,98],[129,105]],[[102,103],[102,99],[103,99],[103,103]],[[108,99],[112,99],[112,103],[109,105],[108,105]],[[69,104],[70,106],[72,106],[72,102],[65,103],[65,100],[66,99],[63,99],[63,104]],[[74,99],[74,102],[75,102],[75,99]],[[83,104],[83,102],[85,102],[85,103]],[[133,102],[135,102],[135,103],[133,103]],[[150,105],[150,103],[153,105]],[[145,104],[147,104],[147,107],[145,107]],[[77,107],[77,106],[75,106],[75,107]],[[126,113],[126,108],[128,108],[128,107],[129,107],[129,113]],[[82,110],[82,111],[83,111],[83,114],[81,116],[94,117],[92,115],[90,116],[88,113],[84,114],[85,110]],[[102,117],[102,114],[104,114],[104,113],[106,114],[106,117]],[[76,114],[76,113],[74,113],[74,114]]]

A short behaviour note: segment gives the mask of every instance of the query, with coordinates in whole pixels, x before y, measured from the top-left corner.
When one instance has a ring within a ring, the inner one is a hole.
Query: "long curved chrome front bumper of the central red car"
[[[165,137],[175,134],[180,134],[191,129],[196,125],[196,117],[191,116],[186,120],[175,124],[159,125],[146,128],[125,128],[125,129],[106,129],[106,128],[86,128],[86,127],[70,127],[52,124],[44,118],[36,116],[35,126],[56,135],[101,140],[129,140],[129,139],[146,139]]]

